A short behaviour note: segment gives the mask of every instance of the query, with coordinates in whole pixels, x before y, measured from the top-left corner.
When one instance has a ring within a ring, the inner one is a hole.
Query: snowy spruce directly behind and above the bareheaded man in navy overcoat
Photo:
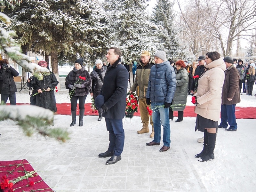
[[[137,60],[141,50],[154,47],[151,33],[155,30],[148,22],[144,0],[107,0],[105,10],[109,17],[110,40],[119,46],[123,58]]]

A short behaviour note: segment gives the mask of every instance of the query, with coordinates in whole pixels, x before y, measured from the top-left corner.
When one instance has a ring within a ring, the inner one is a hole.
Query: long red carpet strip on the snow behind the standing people
[[[21,105],[24,103],[17,103]],[[70,103],[56,103],[58,115],[71,115]],[[84,115],[99,115],[98,113],[92,113],[91,103],[84,104]],[[78,109],[78,104],[77,104]],[[184,117],[196,117],[194,113],[195,106],[186,106],[184,110]],[[250,114],[250,115],[248,115]],[[76,111],[76,115],[79,115],[79,110]],[[134,113],[134,116],[140,116],[140,109],[138,113]],[[174,116],[178,116],[178,112],[174,111]],[[256,107],[236,107],[236,119],[256,119]]]

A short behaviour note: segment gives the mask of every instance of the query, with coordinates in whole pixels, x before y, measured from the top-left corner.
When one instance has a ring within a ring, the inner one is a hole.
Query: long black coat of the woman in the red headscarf
[[[53,112],[57,111],[54,89],[58,85],[58,80],[54,73],[50,72],[50,75],[43,76],[43,80],[38,80],[37,78],[32,78],[31,85],[33,89],[37,92],[38,89],[42,91],[50,87],[51,91],[44,91],[36,95],[36,106],[43,107],[45,109],[50,109]]]

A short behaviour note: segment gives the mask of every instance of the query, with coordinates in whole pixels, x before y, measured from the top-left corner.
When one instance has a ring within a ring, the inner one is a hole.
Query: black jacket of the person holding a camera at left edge
[[[0,93],[11,94],[17,92],[16,84],[13,76],[18,76],[19,73],[14,68],[0,69]]]

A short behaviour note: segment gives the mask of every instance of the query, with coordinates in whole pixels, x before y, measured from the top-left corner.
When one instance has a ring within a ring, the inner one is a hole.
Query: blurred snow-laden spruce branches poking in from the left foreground
[[[0,12],[0,20],[9,24],[10,19]],[[47,68],[42,68],[31,63],[27,55],[20,53],[20,45],[11,37],[15,35],[13,31],[6,31],[0,27],[0,49],[4,51],[13,61],[18,63],[23,69],[31,72],[36,78],[42,79],[43,75],[49,75]],[[44,136],[53,137],[57,140],[66,141],[68,132],[62,128],[48,128],[47,125],[53,123],[53,112],[32,105],[0,105],[0,118],[12,119],[23,131],[31,136],[33,132],[38,132]]]

